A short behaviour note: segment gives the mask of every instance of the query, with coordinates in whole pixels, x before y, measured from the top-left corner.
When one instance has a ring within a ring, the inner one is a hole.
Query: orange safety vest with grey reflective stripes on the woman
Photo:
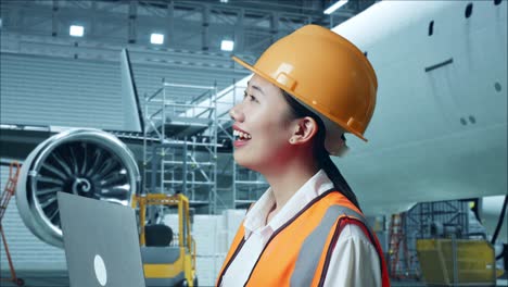
[[[378,251],[382,286],[390,286],[383,252],[361,212],[343,195],[323,192],[268,239],[244,286],[322,286],[341,230],[361,228]],[[243,224],[234,236],[216,286],[245,242]],[[361,272],[361,271],[358,271]]]

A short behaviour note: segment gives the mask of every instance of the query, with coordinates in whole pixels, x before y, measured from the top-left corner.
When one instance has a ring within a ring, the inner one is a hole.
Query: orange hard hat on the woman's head
[[[336,153],[344,132],[367,141],[378,80],[364,53],[342,36],[306,25],[271,45],[255,65],[233,60],[316,112],[329,153]]]

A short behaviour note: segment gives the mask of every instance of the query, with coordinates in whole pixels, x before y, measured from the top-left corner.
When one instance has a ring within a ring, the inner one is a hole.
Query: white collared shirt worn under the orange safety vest
[[[331,188],[333,184],[325,171],[320,170],[266,224],[266,219],[276,204],[274,192],[268,188],[245,215],[245,244],[224,274],[221,286],[243,286],[274,232],[296,215],[308,202]],[[358,226],[346,225],[339,236],[325,286],[381,286],[378,253]]]

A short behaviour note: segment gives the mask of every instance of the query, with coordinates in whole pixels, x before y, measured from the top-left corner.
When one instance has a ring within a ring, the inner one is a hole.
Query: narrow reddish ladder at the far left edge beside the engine
[[[9,201],[11,197],[16,192],[17,177],[20,176],[20,163],[11,162],[9,166],[9,179],[5,185],[5,189],[0,198],[0,233],[2,234],[3,246],[5,247],[5,255],[9,260],[9,267],[11,270],[11,278],[1,278],[2,280],[11,280],[17,286],[25,285],[25,282],[22,278],[16,277],[16,272],[14,271],[14,265],[12,264],[11,253],[9,253],[9,247],[5,241],[5,234],[3,233],[2,220],[5,214]]]

